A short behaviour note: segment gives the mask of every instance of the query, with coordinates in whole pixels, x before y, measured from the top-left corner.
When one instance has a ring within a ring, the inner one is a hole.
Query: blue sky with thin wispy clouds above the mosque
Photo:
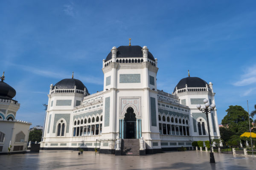
[[[43,125],[51,84],[74,71],[102,91],[102,59],[131,38],[158,59],[159,90],[172,93],[188,69],[212,82],[221,123],[230,105],[256,104],[255,18],[250,0],[2,0],[0,73],[17,92],[16,119]]]

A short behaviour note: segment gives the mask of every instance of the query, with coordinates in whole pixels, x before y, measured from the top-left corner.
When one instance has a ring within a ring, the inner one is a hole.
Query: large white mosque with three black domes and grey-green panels
[[[211,82],[189,76],[172,94],[157,90],[157,59],[131,44],[113,47],[102,71],[104,90],[96,94],[73,76],[50,85],[41,149],[139,155],[209,140],[206,115],[196,105],[215,103]],[[209,128],[219,139],[216,108]]]

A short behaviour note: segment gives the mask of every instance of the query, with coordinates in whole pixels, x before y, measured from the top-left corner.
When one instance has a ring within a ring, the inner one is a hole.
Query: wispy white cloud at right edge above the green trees
[[[244,74],[241,76],[240,80],[234,82],[235,86],[245,86],[256,83],[256,65],[249,67],[244,71]]]

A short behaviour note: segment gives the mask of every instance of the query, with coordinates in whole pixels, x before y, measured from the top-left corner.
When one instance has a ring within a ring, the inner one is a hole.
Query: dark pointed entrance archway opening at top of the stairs
[[[136,114],[133,108],[127,108],[124,123],[125,139],[136,139]]]

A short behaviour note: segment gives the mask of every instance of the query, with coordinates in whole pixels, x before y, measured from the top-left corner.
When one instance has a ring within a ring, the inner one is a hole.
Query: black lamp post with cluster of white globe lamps
[[[209,143],[210,143],[210,163],[215,163],[214,155],[212,152],[212,142],[211,142],[211,136],[210,136],[210,128],[209,128],[209,119],[208,119],[208,113],[211,113],[211,111],[214,110],[215,104],[211,104],[211,108],[209,108],[210,104],[207,99],[204,99],[204,105],[201,108],[201,105],[196,105],[199,111],[202,111],[203,113],[206,114],[207,118],[207,128],[208,128],[208,134],[209,134]]]

